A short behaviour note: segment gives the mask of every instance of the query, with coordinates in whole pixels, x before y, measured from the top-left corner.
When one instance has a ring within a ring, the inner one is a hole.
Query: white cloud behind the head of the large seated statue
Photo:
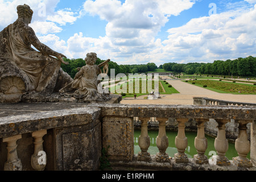
[[[55,12],[55,7],[60,0],[14,0],[0,1],[0,30],[13,23],[17,18],[16,7],[18,5],[27,4],[34,11],[30,26],[34,28],[36,34],[47,35],[49,33],[61,32],[67,23],[74,23],[80,15],[72,12],[71,9],[58,10]],[[3,16],[5,15],[5,16]],[[57,26],[57,24],[59,26]]]

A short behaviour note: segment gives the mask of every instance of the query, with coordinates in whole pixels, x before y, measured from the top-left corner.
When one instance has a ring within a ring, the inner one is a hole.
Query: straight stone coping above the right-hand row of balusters
[[[254,106],[215,106],[215,105],[102,105],[104,116],[156,117],[156,118],[203,118],[203,119],[247,119],[254,120]]]

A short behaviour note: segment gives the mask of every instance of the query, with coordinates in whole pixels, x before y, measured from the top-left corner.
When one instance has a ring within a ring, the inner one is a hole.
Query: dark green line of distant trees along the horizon
[[[84,59],[66,59],[68,65],[61,65],[61,68],[67,72],[72,78],[75,77],[77,68],[85,65]],[[96,64],[100,64],[105,60],[97,59]],[[236,60],[216,60],[213,63],[165,63],[156,66],[155,63],[148,64],[132,64],[132,65],[118,65],[117,63],[109,62],[110,69],[115,69],[115,75],[118,73],[147,73],[154,72],[155,69],[164,69],[166,72],[185,73],[187,75],[193,74],[207,74],[207,75],[226,75],[226,76],[256,76],[256,57],[249,56],[246,58],[238,58]]]

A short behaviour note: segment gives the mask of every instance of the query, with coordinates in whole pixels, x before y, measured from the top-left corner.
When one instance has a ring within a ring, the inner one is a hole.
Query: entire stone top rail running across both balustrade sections
[[[26,109],[27,108],[27,109]],[[55,127],[84,125],[98,117],[255,119],[254,106],[122,105],[122,104],[3,104],[0,138]],[[14,115],[12,115],[14,114]]]

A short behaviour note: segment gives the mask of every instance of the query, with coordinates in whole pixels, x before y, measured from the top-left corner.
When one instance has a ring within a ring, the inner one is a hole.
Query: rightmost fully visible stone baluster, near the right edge
[[[238,120],[239,133],[236,139],[235,148],[237,150],[238,156],[233,158],[233,162],[240,167],[253,167],[253,163],[246,158],[247,154],[250,152],[250,142],[246,133],[248,120]]]

